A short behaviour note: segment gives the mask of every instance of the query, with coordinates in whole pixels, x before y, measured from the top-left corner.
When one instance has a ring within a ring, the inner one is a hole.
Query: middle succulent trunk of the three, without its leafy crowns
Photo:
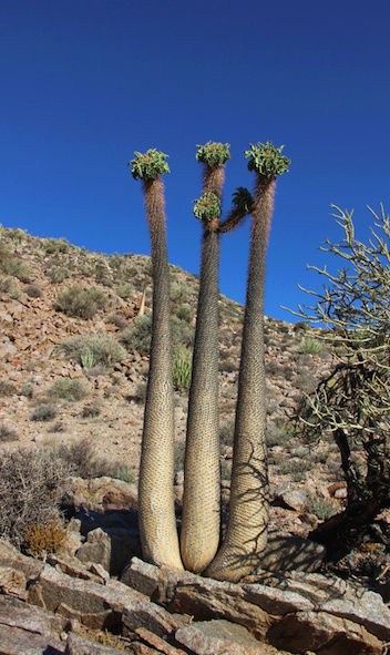
[[[222,167],[205,170],[204,192],[219,198]],[[182,557],[186,569],[202,571],[219,543],[220,471],[218,420],[218,219],[204,227],[199,297],[188,399],[184,464]]]

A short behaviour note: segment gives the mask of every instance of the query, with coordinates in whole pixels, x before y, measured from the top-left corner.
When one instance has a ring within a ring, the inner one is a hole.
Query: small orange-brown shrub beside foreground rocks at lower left
[[[47,553],[60,553],[66,543],[66,530],[59,519],[48,523],[32,523],[24,530],[23,551],[43,559]]]

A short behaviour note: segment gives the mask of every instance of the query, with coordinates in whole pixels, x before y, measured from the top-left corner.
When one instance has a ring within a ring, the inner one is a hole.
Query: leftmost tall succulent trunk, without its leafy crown
[[[163,183],[144,182],[152,239],[153,326],[142,438],[138,520],[143,556],[182,569],[174,512],[174,407],[170,311],[170,269]]]

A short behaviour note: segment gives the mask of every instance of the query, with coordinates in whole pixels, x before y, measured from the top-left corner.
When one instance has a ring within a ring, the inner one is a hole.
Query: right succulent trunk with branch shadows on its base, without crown
[[[206,574],[236,582],[259,565],[267,543],[268,474],[264,366],[265,264],[275,181],[258,175],[234,438],[229,519]]]

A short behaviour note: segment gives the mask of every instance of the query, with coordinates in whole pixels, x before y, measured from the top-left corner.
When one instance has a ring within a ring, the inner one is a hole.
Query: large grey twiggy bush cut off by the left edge
[[[28,525],[59,519],[69,470],[45,449],[21,448],[0,459],[1,535],[20,547]]]

